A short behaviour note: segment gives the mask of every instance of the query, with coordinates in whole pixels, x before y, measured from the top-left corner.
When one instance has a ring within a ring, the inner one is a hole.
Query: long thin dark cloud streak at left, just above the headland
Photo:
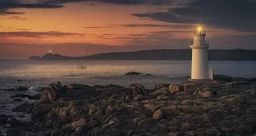
[[[46,38],[46,37],[66,37],[66,36],[78,36],[82,37],[84,35],[79,33],[62,33],[58,31],[49,31],[49,32],[0,32],[0,38],[6,37],[32,37],[32,38]]]

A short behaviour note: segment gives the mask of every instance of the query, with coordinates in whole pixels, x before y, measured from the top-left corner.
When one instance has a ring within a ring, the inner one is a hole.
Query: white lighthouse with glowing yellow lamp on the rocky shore
[[[206,30],[199,26],[194,30],[194,41],[191,42],[192,67],[191,80],[213,80],[213,70],[208,65],[209,41],[206,41]]]

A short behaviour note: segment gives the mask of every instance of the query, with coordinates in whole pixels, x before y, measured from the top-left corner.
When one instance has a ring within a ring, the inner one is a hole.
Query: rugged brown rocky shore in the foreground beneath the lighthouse
[[[14,109],[31,114],[31,120],[12,120],[6,134],[256,134],[256,80],[230,76],[215,76],[215,80],[212,83],[158,84],[151,89],[141,84],[126,88],[57,82],[42,88],[37,103],[25,103]],[[0,122],[7,123],[6,120],[7,116],[0,116]]]

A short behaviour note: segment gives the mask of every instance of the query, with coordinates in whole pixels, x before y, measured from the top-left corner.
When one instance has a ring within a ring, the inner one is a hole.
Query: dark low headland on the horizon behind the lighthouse
[[[106,52],[91,56],[62,56],[46,53],[30,60],[191,60],[191,49],[159,49],[137,52]],[[209,60],[256,60],[256,50],[210,49]]]

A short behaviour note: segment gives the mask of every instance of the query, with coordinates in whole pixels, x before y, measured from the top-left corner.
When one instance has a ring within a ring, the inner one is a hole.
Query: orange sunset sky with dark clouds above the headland
[[[188,49],[256,49],[255,0],[0,0],[0,58]]]

